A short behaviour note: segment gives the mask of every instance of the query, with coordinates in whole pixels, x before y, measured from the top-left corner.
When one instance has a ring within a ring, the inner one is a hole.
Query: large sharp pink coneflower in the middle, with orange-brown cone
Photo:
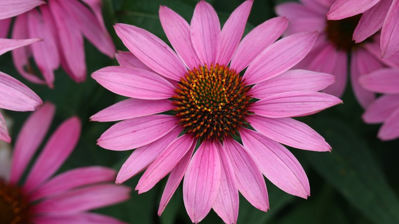
[[[333,75],[287,71],[312,48],[316,32],[273,43],[287,26],[286,18],[277,17],[241,40],[252,3],[242,3],[221,31],[216,12],[205,1],[196,5],[190,25],[161,6],[161,24],[176,53],[146,30],[117,24],[116,32],[131,53],[117,54],[121,66],[92,75],[110,91],[130,97],[91,118],[124,120],[103,133],[101,147],[137,148],[116,183],[146,169],[136,187],[143,193],[170,173],[159,215],[183,176],[184,204],[193,222],[213,208],[225,222],[235,223],[238,191],[267,211],[262,173],[287,193],[306,198],[306,174],[280,143],[330,150],[311,127],[291,118],[341,102],[317,92],[335,81]],[[238,135],[243,145],[234,139]]]

